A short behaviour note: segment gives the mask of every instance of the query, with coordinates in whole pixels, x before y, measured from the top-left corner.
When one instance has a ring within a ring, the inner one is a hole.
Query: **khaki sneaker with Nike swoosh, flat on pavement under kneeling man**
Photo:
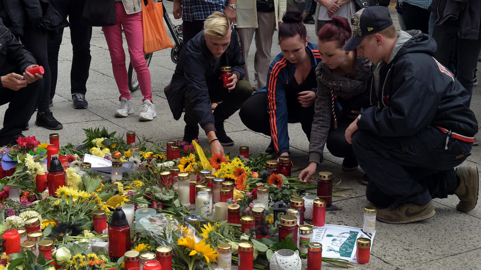
[[[405,203],[397,208],[392,205],[386,209],[379,209],[376,218],[386,223],[403,224],[429,219],[435,213],[432,201],[422,206]]]

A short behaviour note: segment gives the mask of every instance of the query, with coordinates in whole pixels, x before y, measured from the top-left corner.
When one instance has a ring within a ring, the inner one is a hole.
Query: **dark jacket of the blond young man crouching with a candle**
[[[244,78],[244,60],[241,56],[241,44],[234,28],[230,35],[230,44],[219,59],[212,62],[212,53],[205,44],[203,31],[199,32],[184,45],[177,62],[177,67],[165,95],[174,119],[178,120],[184,106],[184,94],[189,94],[189,101],[204,131],[214,128],[214,115],[208,89],[222,87],[219,80],[220,66],[231,66],[237,79]],[[227,91],[227,89],[226,89]]]

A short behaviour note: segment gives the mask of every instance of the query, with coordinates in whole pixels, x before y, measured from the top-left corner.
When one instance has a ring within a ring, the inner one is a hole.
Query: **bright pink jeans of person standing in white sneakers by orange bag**
[[[103,26],[103,34],[109,46],[110,58],[112,59],[112,70],[114,71],[115,82],[119,88],[120,98],[130,99],[128,91],[128,76],[125,65],[125,51],[122,39],[122,26],[127,39],[128,54],[130,63],[137,72],[140,91],[144,98],[152,101],[151,75],[144,58],[144,39],[142,36],[142,12],[127,14],[122,2],[115,2],[116,25]]]

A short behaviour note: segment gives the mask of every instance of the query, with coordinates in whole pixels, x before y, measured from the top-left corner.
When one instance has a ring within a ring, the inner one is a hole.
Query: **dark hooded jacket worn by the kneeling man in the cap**
[[[434,59],[436,42],[432,38],[419,30],[408,34],[412,37],[375,74],[373,106],[361,110],[358,128],[388,137],[415,135],[431,125],[474,136],[478,122],[469,110],[468,91]],[[379,81],[379,93],[375,81]]]

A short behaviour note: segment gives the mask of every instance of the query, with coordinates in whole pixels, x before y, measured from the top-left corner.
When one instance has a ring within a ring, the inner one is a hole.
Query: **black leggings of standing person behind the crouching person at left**
[[[25,46],[25,49],[32,53],[35,60],[37,60],[37,64],[45,70],[43,74],[44,84],[42,98],[38,104],[38,110],[45,111],[49,109],[51,83],[50,67],[47,57],[47,33],[45,31],[41,33],[38,27],[35,29],[25,27],[24,35],[19,36],[18,39],[20,39]]]

